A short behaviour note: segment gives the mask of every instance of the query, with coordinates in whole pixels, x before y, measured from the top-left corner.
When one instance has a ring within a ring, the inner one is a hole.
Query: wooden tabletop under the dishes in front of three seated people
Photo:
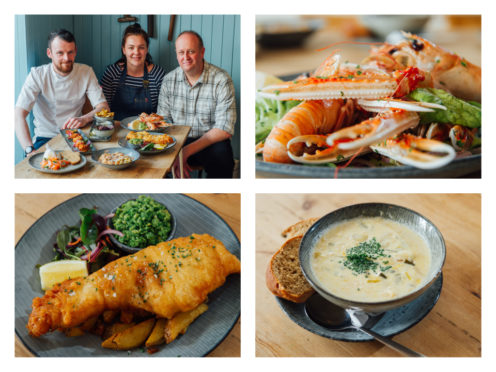
[[[83,129],[86,135],[89,132],[89,126]],[[188,137],[188,133],[191,127],[184,125],[174,125],[167,130],[167,134],[173,136],[177,143],[176,145],[165,151],[164,153],[159,153],[155,155],[143,155],[140,154],[140,158],[136,164],[130,166],[129,168],[122,170],[112,170],[97,164],[91,155],[86,155],[87,163],[86,165],[74,172],[64,173],[64,174],[53,174],[53,173],[42,173],[33,169],[29,163],[28,159],[22,160],[15,166],[15,177],[16,178],[51,178],[51,179],[61,179],[61,178],[164,178],[167,173],[171,171],[172,164],[174,160],[179,155],[181,148]],[[94,142],[96,150],[119,147],[118,140],[120,138],[125,138],[128,130],[116,126],[116,132],[112,135],[112,139],[109,142]],[[54,150],[67,150],[69,145],[62,137],[61,134],[52,138],[48,144]],[[45,151],[45,146],[41,147],[37,152]],[[84,156],[84,155],[83,155]]]

